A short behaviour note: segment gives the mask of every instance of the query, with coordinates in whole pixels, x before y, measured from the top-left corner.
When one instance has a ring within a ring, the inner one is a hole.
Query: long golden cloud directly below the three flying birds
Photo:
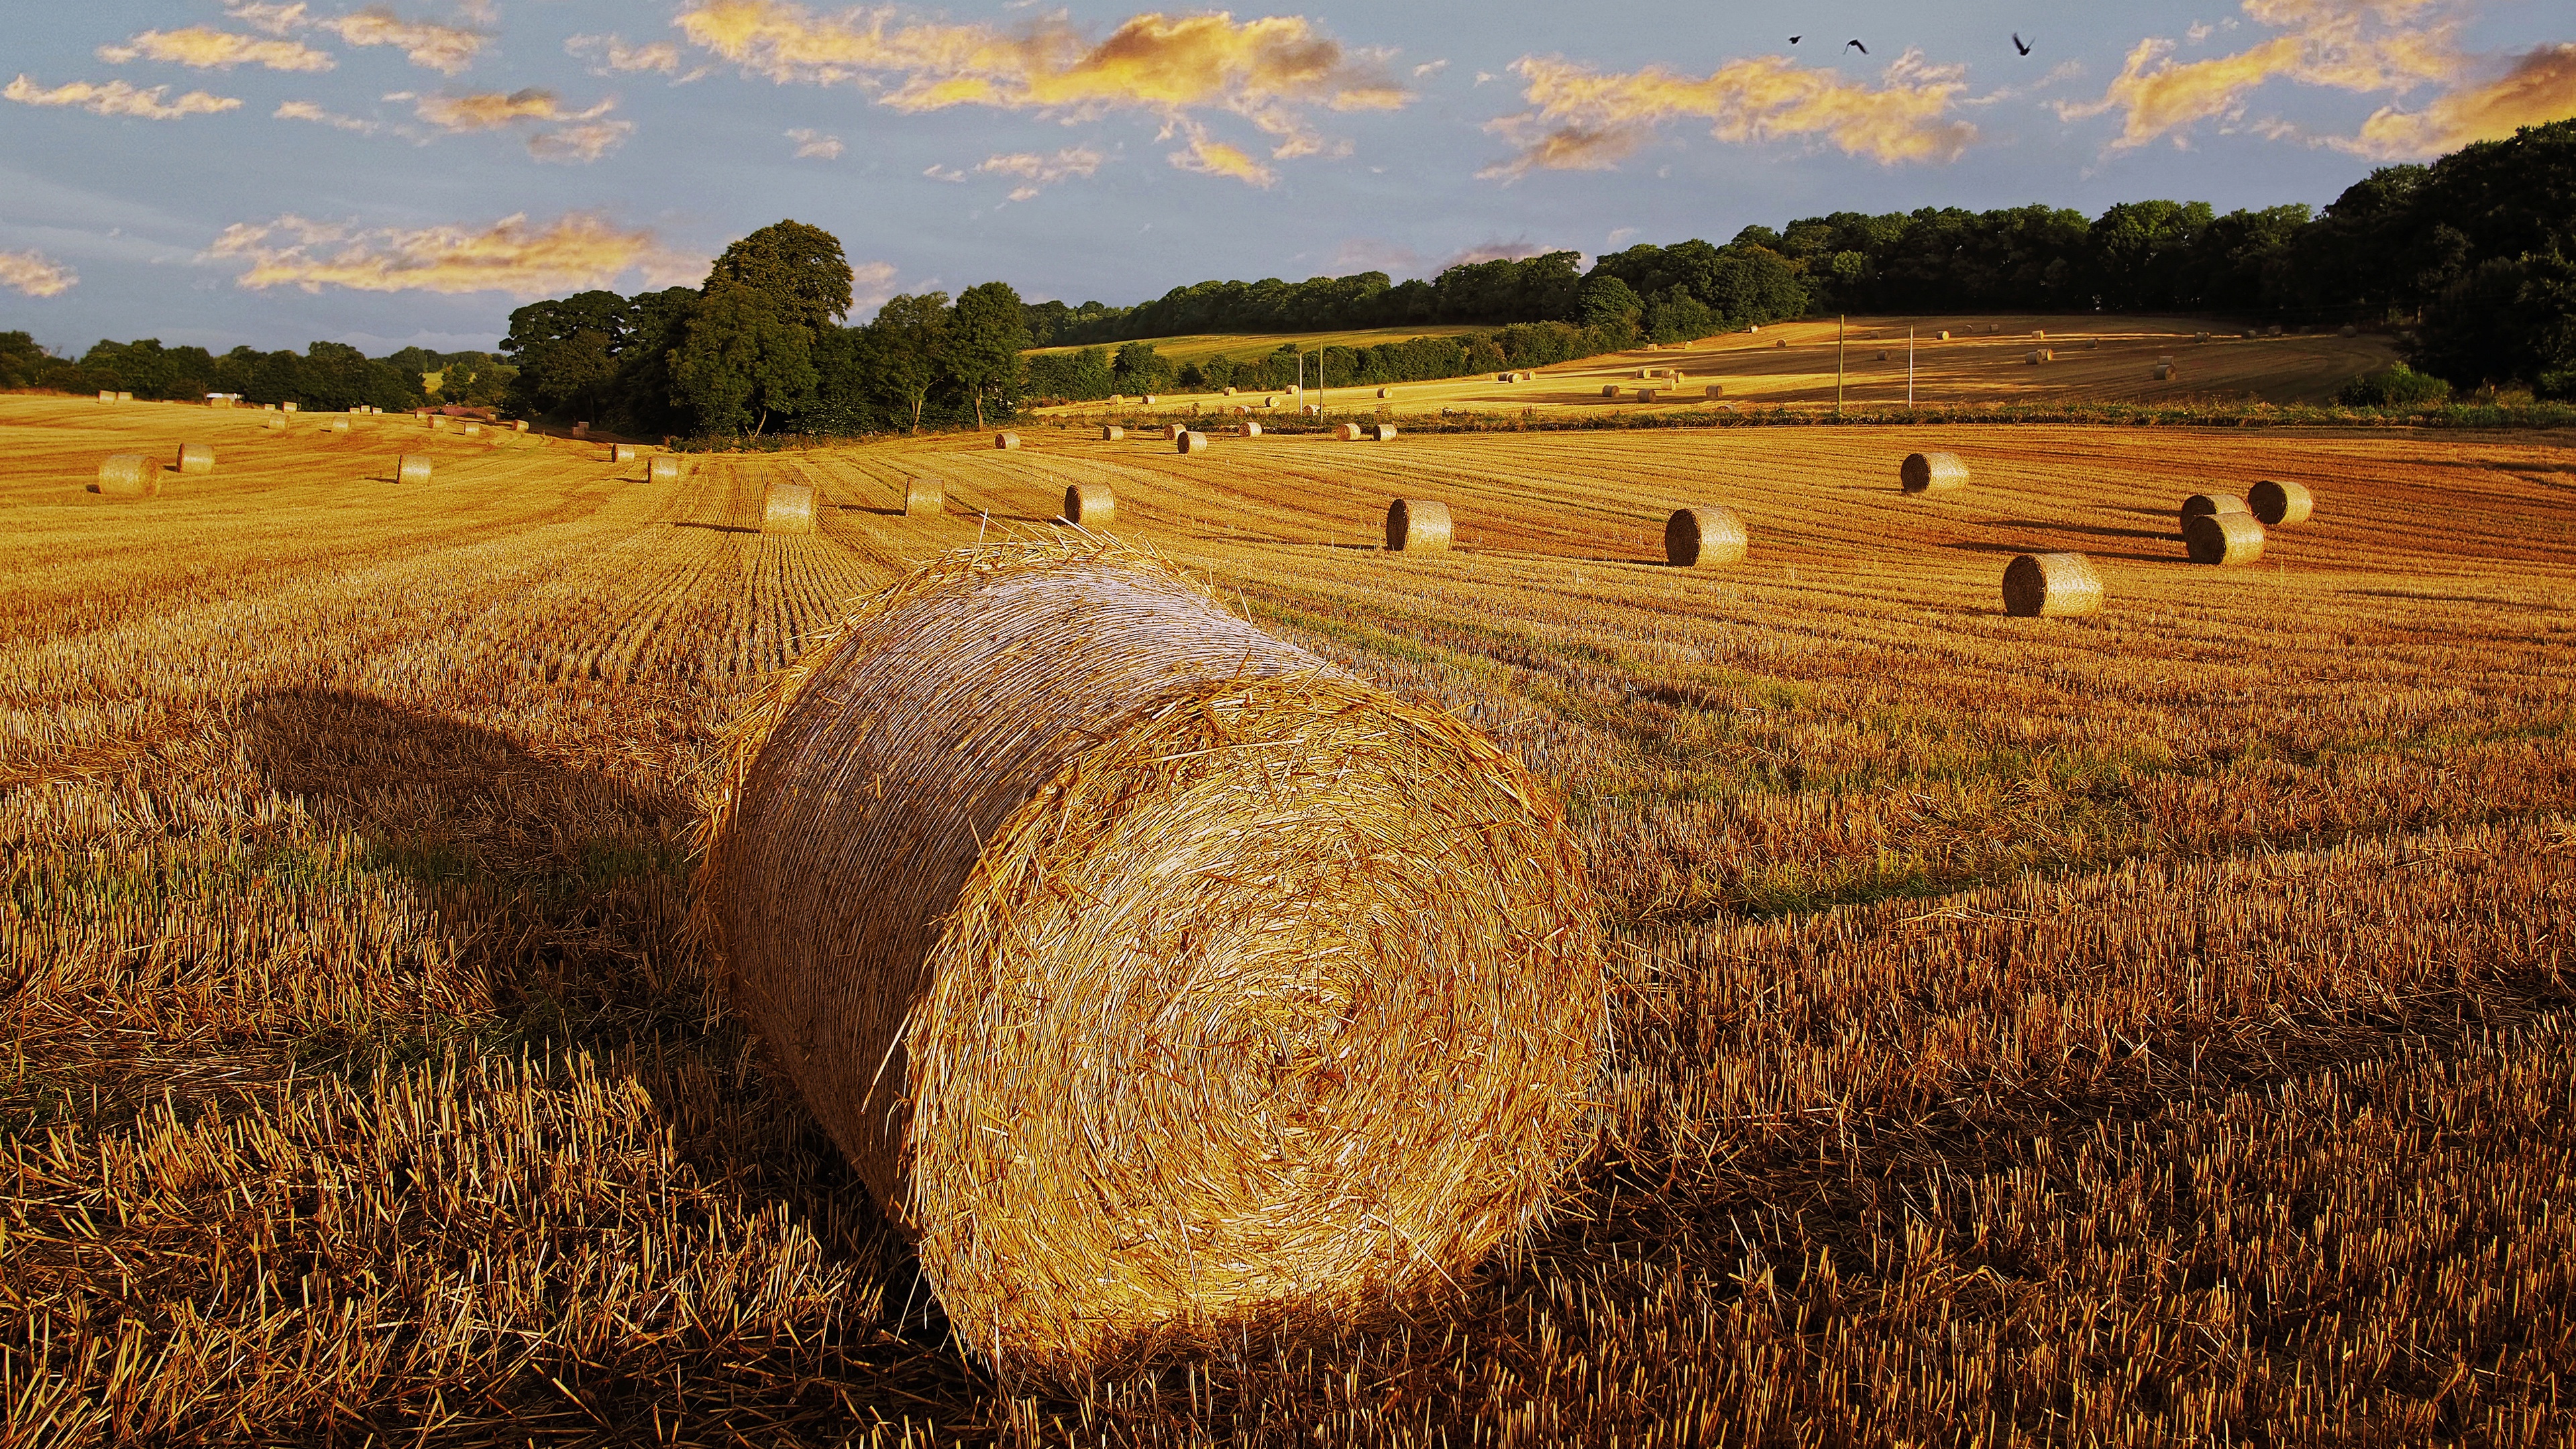
[[[1512,62],[1512,72],[1533,108],[1486,124],[1520,147],[1512,160],[1486,168],[1486,178],[1607,170],[1674,119],[1710,121],[1708,134],[1721,142],[1821,137],[1886,165],[1958,160],[1976,142],[1976,126],[1947,119],[1965,90],[1960,72],[1927,67],[1917,52],[1899,57],[1875,88],[1777,54],[1728,62],[1705,77],[1659,64],[1605,75],[1540,57]]]

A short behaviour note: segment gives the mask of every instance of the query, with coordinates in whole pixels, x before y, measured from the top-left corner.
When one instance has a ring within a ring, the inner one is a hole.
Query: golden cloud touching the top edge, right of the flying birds
[[[2445,0],[2244,0],[2244,10],[2282,34],[2236,54],[2177,62],[2174,41],[2143,39],[2099,101],[2056,106],[2061,121],[2120,111],[2110,150],[2161,137],[2177,144],[2200,121],[2244,119],[2246,98],[2269,80],[2357,93],[2406,93],[2452,80],[2463,62]]]

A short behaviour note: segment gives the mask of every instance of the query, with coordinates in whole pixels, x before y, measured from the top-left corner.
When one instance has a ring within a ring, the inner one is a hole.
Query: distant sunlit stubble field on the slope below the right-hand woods
[[[1394,418],[1443,410],[1530,410],[1548,415],[1636,413],[1672,407],[1708,407],[1700,389],[1710,382],[1726,389],[1723,405],[1793,405],[1816,407],[1834,402],[1837,356],[1842,366],[1842,402],[1847,407],[1888,407],[1906,402],[1906,330],[1914,327],[1914,402],[1924,407],[1955,407],[1963,402],[2326,402],[2347,379],[2388,366],[2396,353],[2388,338],[2282,335],[2249,338],[2239,333],[2213,333],[2208,343],[2195,340],[2210,327],[2192,317],[1852,317],[1839,322],[1780,322],[1759,333],[1728,333],[1698,343],[1651,345],[1610,353],[1558,366],[1535,369],[1530,382],[1494,382],[1466,376],[1450,382],[1399,382],[1388,400],[1378,400],[1376,387],[1309,389],[1309,402],[1332,410],[1378,410]],[[1388,335],[1440,333],[1443,327],[1404,330]],[[1461,327],[1448,327],[1461,330]],[[1468,327],[1473,330],[1473,327]],[[1937,340],[1947,330],[1950,340]],[[2045,333],[2045,338],[2035,338]],[[1358,335],[1358,333],[1352,333]],[[1226,338],[1229,345],[1206,351],[1177,351],[1177,343],[1200,338],[1157,340],[1164,356],[1213,356],[1218,351],[1247,356],[1270,351],[1283,338]],[[1345,340],[1345,338],[1332,338]],[[1386,340],[1368,335],[1368,340]],[[1267,343],[1267,345],[1262,345]],[[2053,361],[2030,364],[2035,348],[2048,348]],[[1888,353],[1880,361],[1878,353]],[[2174,358],[2174,374],[2156,382],[2156,361]],[[1692,397],[1638,402],[1638,369],[1682,369],[1692,384]],[[1618,387],[1618,400],[1605,400],[1602,387]],[[1262,397],[1172,394],[1159,400],[1159,413],[1185,415],[1195,410],[1260,402]],[[1288,402],[1283,400],[1280,407]],[[1074,402],[1048,413],[1079,418],[1097,415],[1110,405]],[[1113,405],[1115,413],[1136,413],[1133,405]]]

